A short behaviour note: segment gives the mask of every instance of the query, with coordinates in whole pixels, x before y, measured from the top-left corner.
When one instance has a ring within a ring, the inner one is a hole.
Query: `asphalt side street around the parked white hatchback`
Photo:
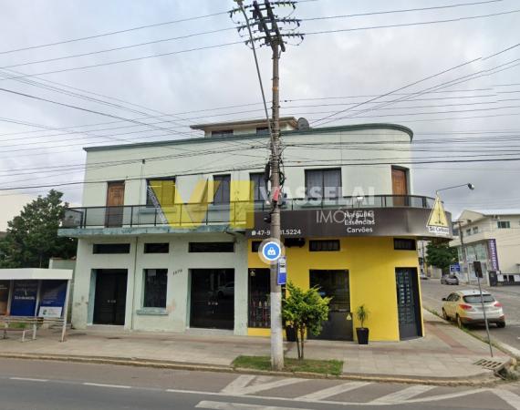
[[[442,285],[439,280],[430,279],[421,281],[422,302],[425,307],[434,309],[438,313],[442,312],[442,298],[448,296],[453,291],[462,289],[478,289],[473,285]],[[492,339],[505,343],[520,353],[520,286],[497,286],[484,288],[491,292],[495,299],[504,305],[505,327],[498,329],[494,324],[490,325],[490,335]],[[483,326],[472,326],[470,330],[482,337],[486,337]]]

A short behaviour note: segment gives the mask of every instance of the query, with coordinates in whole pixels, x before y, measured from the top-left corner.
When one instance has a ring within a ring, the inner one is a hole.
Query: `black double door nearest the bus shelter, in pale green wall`
[[[97,271],[94,324],[125,324],[127,277],[126,269]]]

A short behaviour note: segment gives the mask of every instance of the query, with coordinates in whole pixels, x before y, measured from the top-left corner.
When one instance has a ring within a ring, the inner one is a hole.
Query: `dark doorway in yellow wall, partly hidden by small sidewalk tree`
[[[309,272],[310,286],[317,286],[321,296],[331,297],[328,321],[323,323],[322,331],[317,336],[310,334],[309,339],[353,340],[352,321],[347,319],[350,313],[350,292],[348,271]]]

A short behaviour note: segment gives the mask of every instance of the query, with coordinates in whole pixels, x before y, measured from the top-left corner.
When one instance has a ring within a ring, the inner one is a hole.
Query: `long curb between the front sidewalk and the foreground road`
[[[232,367],[226,365],[212,364],[184,364],[180,362],[161,362],[141,358],[126,357],[88,357],[80,355],[65,354],[16,354],[0,353],[0,358],[5,359],[25,359],[25,360],[48,360],[56,362],[82,363],[82,364],[115,364],[134,367],[149,367],[156,369],[188,370],[198,372],[221,372],[236,374],[258,374],[285,377],[298,377],[306,379],[336,379],[336,380],[356,380],[374,383],[398,383],[398,384],[429,384],[439,386],[488,386],[498,384],[501,380],[495,377],[492,372],[477,374],[461,378],[428,378],[420,376],[406,375],[385,375],[385,374],[314,374],[307,372],[274,372],[268,370],[255,370],[242,367]]]

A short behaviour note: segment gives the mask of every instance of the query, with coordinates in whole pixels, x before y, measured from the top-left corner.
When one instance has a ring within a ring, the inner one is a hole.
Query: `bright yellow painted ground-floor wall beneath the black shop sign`
[[[399,240],[415,242],[412,238]],[[336,243],[333,250],[313,251],[310,246],[313,241],[335,241]],[[352,323],[349,325],[355,329],[359,327],[359,323],[353,313],[359,305],[365,305],[370,313],[369,320],[365,323],[369,328],[370,341],[397,342],[406,338],[406,334],[400,333],[404,332],[403,323],[407,320],[415,322],[415,337],[424,334],[417,251],[396,247],[396,238],[347,237],[316,240],[306,238],[297,246],[286,246],[285,254],[287,281],[303,289],[308,289],[313,284],[311,283],[313,280],[319,281],[320,272],[343,272],[347,282],[340,284],[348,289],[337,288],[336,292],[345,295],[342,297],[348,300],[346,302],[348,307],[338,312],[345,316],[345,321],[351,318]],[[258,256],[253,240],[249,240],[248,243],[247,262],[250,275],[255,275],[256,270],[268,268]],[[411,272],[411,274],[403,282],[400,280],[400,272]],[[410,309],[407,311],[404,303],[413,303],[413,312]],[[254,308],[255,305],[250,304],[250,310]],[[407,312],[413,313],[414,317],[407,319]],[[267,336],[269,329],[260,326],[252,327],[250,323],[248,334]],[[352,335],[355,339],[356,333],[352,332]]]

